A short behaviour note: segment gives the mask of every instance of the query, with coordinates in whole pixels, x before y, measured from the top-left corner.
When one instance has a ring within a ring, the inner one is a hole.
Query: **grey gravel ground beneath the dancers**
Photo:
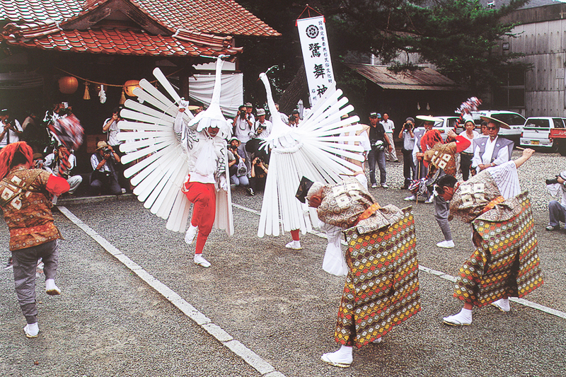
[[[392,188],[371,189],[379,202],[408,204],[403,201],[408,192],[398,190],[402,169],[402,163],[387,163]],[[566,311],[565,232],[544,231],[550,200],[544,180],[565,169],[566,158],[541,153],[519,169],[522,188],[531,192],[545,277],[545,284],[526,298],[560,311]],[[233,202],[244,207],[260,210],[261,200],[262,195],[250,197],[240,188],[233,192]],[[566,375],[566,320],[512,303],[509,313],[475,310],[469,327],[442,325],[441,318],[458,311],[461,303],[451,295],[453,283],[424,272],[420,313],[395,327],[381,344],[356,350],[350,369],[326,366],[319,358],[337,347],[333,327],[345,279],[320,268],[324,239],[301,236],[304,250],[287,250],[289,235],[257,238],[259,217],[235,208],[236,234],[211,233],[204,253],[212,267],[203,269],[192,264],[194,246],[187,249],[181,234],[166,231],[165,221],[135,199],[68,208],[286,376]],[[458,274],[473,251],[469,226],[452,221],[456,248],[440,249],[432,205],[413,204],[413,211],[420,264]],[[58,215],[57,224],[68,239],[59,272],[64,295],[59,301],[47,298],[40,308],[45,323],[40,325],[40,342],[20,333],[23,318],[11,274],[2,274],[6,299],[1,303],[0,339],[10,346],[0,351],[0,371],[22,376],[258,375],[67,219]],[[6,244],[6,231],[1,234]],[[81,335],[83,326],[88,326],[88,335]],[[31,365],[35,359],[43,369]]]

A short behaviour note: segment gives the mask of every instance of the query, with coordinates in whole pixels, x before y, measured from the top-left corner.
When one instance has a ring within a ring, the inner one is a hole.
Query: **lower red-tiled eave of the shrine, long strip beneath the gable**
[[[3,34],[0,37],[11,45],[93,54],[218,56],[241,51],[230,46],[231,37],[188,32],[177,38],[119,29],[61,30],[55,23],[35,23],[33,27],[8,24]]]

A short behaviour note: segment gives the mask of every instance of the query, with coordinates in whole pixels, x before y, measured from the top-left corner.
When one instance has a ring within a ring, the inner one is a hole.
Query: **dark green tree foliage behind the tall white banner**
[[[365,91],[359,78],[347,74],[341,62],[351,52],[371,52],[397,71],[415,69],[399,57],[418,54],[417,63],[432,63],[442,74],[475,91],[497,86],[510,69],[527,68],[516,62],[519,55],[501,54],[495,47],[502,37],[513,36],[514,25],[501,19],[528,1],[509,0],[498,9],[485,8],[479,0],[320,0],[309,1],[309,5],[325,15],[333,66],[341,73],[335,75],[340,88]],[[284,0],[239,3],[282,33],[277,41],[246,40],[243,44],[243,66],[253,74],[277,64],[270,76],[280,91],[302,64],[294,21],[304,5]]]

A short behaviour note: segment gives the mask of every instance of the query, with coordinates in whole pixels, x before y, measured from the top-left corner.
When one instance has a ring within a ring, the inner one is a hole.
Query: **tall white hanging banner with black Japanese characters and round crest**
[[[309,100],[313,107],[334,80],[324,16],[296,21],[303,50]]]

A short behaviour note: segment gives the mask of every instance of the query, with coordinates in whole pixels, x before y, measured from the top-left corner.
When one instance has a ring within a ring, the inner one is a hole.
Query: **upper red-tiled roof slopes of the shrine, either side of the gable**
[[[107,4],[109,1],[91,0]],[[270,37],[280,35],[233,0],[131,1],[171,30],[180,28],[217,35]],[[81,0],[0,0],[0,21],[69,21],[83,11]],[[91,6],[96,8],[95,6]]]

